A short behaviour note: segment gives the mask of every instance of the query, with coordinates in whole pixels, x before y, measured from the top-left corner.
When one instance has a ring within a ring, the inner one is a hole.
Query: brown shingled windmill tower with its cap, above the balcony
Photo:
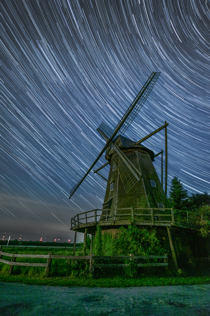
[[[143,145],[136,145],[134,141],[122,135],[116,137],[114,143],[140,171],[142,178],[126,193],[118,170],[113,170],[113,146],[110,146],[105,156],[105,159],[110,161],[110,172],[102,215],[110,213],[106,209],[114,209],[115,214],[126,214],[128,211],[122,210],[123,208],[157,208],[158,203],[164,205],[167,199],[152,163],[154,160],[153,151]],[[156,186],[152,186],[150,180],[154,180]],[[113,189],[111,190],[112,183]],[[118,216],[117,219],[120,220],[120,217]],[[105,221],[106,219],[103,217],[100,220]]]

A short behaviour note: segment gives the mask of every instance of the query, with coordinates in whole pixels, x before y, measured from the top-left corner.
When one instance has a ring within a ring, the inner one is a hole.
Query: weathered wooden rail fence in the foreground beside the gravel
[[[12,257],[11,261],[2,259],[3,256]],[[32,263],[32,262],[16,262],[16,258],[46,258],[46,263]],[[9,274],[12,273],[15,265],[18,266],[30,266],[30,267],[45,267],[45,274],[48,275],[50,272],[52,259],[88,259],[90,260],[90,274],[94,275],[94,268],[125,268],[128,264],[94,264],[95,259],[163,259],[162,263],[139,263],[136,264],[137,267],[152,267],[152,266],[165,266],[168,268],[168,257],[167,254],[163,256],[134,256],[130,254],[130,256],[94,256],[91,254],[90,256],[59,256],[54,255],[52,252],[48,252],[48,255],[30,255],[30,254],[18,254],[9,253],[0,251],[0,262],[6,263],[10,265]]]

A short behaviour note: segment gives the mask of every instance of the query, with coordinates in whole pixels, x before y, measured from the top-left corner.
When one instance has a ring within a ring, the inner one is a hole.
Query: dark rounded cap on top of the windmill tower
[[[118,140],[118,141],[117,141]],[[136,145],[136,142],[127,138],[127,137],[124,137],[122,135],[117,135],[114,140],[113,140],[113,143],[116,143],[116,145],[121,149],[123,150],[123,148],[133,148],[133,149],[141,149],[141,150],[144,150],[146,151],[149,155],[150,155],[150,158],[152,161],[154,161],[154,157],[155,157],[155,154],[154,152],[145,147],[144,145],[142,144],[139,144],[139,145]],[[112,145],[110,147],[108,147],[106,149],[106,157],[109,156],[109,153],[110,151],[112,150],[111,149]],[[111,154],[111,153],[110,153]],[[108,158],[108,157],[107,157]],[[109,160],[109,158],[107,159]]]

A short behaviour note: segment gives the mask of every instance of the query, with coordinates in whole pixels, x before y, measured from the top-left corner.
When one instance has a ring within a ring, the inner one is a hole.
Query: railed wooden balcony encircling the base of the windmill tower
[[[106,214],[101,215],[102,211]],[[101,229],[112,229],[132,223],[139,226],[176,226],[200,230],[207,219],[207,216],[203,214],[173,210],[173,208],[95,209],[77,214],[71,218],[71,230],[84,233],[85,228],[88,228],[88,233],[94,234],[97,226],[100,226]]]

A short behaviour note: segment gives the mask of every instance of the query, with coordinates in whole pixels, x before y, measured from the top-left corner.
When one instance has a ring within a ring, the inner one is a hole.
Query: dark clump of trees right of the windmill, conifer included
[[[169,201],[171,206],[177,210],[210,212],[210,195],[205,191],[204,193],[191,193],[189,196],[181,181],[175,176],[171,181]]]

